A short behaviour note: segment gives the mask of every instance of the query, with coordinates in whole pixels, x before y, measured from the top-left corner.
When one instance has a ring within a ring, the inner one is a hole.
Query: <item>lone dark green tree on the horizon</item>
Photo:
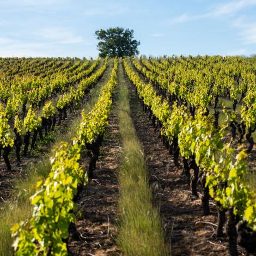
[[[133,39],[133,29],[124,28],[108,28],[100,29],[95,32],[97,39],[100,40],[97,48],[100,51],[100,57],[109,56],[123,57],[138,55],[138,46],[141,42]]]

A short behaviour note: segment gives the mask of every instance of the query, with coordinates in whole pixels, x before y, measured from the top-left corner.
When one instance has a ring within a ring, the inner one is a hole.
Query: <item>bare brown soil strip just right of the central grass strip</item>
[[[172,255],[229,255],[227,242],[214,238],[217,223],[215,203],[210,203],[212,215],[202,216],[200,200],[191,201],[190,187],[182,169],[174,166],[172,156],[159,139],[159,133],[142,111],[132,85],[130,95],[134,125],[144,148],[155,205],[160,206]],[[241,248],[239,250],[244,255]]]

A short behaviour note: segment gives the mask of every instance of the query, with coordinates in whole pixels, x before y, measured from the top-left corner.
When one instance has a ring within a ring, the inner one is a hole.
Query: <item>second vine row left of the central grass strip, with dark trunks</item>
[[[90,74],[94,68],[97,66],[96,64],[92,65],[88,70],[82,71],[80,74]],[[22,145],[22,137],[24,141],[24,151],[23,155],[27,155],[30,138],[32,137],[31,142],[31,149],[34,149],[36,137],[40,136],[40,139],[42,139],[42,130],[45,130],[45,134],[47,136],[48,131],[53,130],[54,126],[56,124],[56,115],[57,110],[59,112],[59,122],[62,121],[63,118],[66,118],[66,113],[68,108],[71,108],[73,106],[77,106],[78,103],[81,101],[82,97],[84,96],[84,92],[86,91],[87,87],[89,87],[91,84],[95,83],[99,79],[100,76],[102,76],[103,71],[105,71],[107,66],[107,59],[105,60],[105,64],[102,66],[101,69],[97,70],[94,75],[84,78],[84,80],[81,81],[80,85],[75,89],[73,87],[70,88],[69,93],[65,93],[62,96],[59,97],[56,107],[54,107],[53,101],[47,101],[42,108],[42,113],[38,117],[36,114],[36,109],[33,108],[33,106],[30,106],[27,112],[27,115],[23,121],[19,118],[19,115],[15,115],[14,118],[14,133],[15,138],[13,139],[11,136],[11,129],[10,125],[8,124],[8,114],[7,109],[5,108],[5,111],[3,107],[1,108],[0,105],[0,112],[3,116],[1,123],[0,123],[0,150],[3,149],[3,157],[4,161],[7,164],[7,168],[10,170],[10,162],[8,159],[8,155],[11,151],[11,148],[15,145],[16,148],[16,157],[17,161],[20,161],[20,150]],[[1,153],[1,151],[0,151]]]

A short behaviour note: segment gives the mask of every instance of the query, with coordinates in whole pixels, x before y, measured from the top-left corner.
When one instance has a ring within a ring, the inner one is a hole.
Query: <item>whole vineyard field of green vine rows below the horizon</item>
[[[0,255],[256,255],[253,58],[0,58]]]

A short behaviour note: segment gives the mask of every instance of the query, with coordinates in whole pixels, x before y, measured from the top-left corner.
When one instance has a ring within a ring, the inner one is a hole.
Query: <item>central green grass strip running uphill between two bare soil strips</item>
[[[153,207],[142,146],[130,116],[129,90],[119,63],[118,124],[123,154],[118,176],[120,223],[118,246],[124,255],[170,255],[159,211]]]

